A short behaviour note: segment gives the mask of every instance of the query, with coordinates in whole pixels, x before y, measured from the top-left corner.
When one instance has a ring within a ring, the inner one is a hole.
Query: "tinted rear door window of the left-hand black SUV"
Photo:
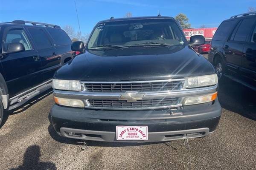
[[[49,38],[47,37],[47,34],[42,29],[28,28],[28,30],[38,50],[52,47],[52,44]]]

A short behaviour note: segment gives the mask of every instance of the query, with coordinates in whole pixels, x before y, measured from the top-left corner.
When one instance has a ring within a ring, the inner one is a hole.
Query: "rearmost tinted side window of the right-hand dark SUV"
[[[225,21],[221,23],[217,31],[214,34],[212,40],[223,41],[229,36],[230,31],[234,28],[236,20]]]

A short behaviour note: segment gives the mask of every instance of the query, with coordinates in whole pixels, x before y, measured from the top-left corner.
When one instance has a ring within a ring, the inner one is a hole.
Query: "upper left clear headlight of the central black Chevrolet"
[[[78,80],[53,79],[52,88],[67,91],[81,91],[81,83]]]

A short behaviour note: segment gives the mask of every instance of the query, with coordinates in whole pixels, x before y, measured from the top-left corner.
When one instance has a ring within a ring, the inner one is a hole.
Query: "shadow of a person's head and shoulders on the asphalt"
[[[32,145],[26,149],[23,157],[23,164],[12,170],[56,170],[55,164],[52,162],[41,162],[40,147]]]

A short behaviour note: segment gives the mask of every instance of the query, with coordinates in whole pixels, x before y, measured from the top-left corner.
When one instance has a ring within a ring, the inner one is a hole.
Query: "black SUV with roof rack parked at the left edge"
[[[51,88],[55,71],[72,58],[71,44],[56,25],[0,23],[0,124],[3,110],[17,108]]]

